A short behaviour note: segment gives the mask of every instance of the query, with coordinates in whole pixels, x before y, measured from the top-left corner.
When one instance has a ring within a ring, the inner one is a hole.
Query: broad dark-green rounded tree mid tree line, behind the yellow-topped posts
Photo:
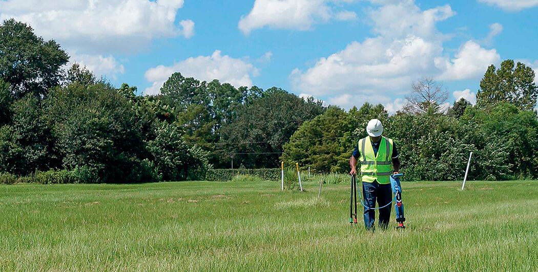
[[[305,101],[275,87],[251,95],[248,101],[236,108],[236,117],[222,128],[217,150],[228,158],[234,156],[237,165],[245,167],[278,167],[282,145],[303,122],[325,111],[321,101]]]

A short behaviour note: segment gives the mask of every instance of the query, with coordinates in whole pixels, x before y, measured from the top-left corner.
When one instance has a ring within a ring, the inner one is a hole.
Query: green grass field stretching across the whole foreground
[[[2,271],[538,271],[538,182],[403,182],[406,229],[349,185],[0,186]]]

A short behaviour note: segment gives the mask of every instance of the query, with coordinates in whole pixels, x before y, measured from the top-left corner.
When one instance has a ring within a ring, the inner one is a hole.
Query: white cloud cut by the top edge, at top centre
[[[330,19],[353,20],[352,11],[335,11],[331,3],[353,2],[354,0],[256,0],[249,14],[239,20],[239,30],[249,34],[263,27],[309,30],[316,23]]]

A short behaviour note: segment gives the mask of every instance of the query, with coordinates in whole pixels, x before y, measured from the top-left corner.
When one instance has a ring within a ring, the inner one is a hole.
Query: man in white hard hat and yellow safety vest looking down
[[[363,181],[364,204],[370,208],[383,207],[392,200],[390,175],[397,174],[400,169],[396,145],[383,134],[383,124],[372,119],[366,126],[369,136],[360,139],[349,160],[350,174],[357,174],[357,159],[360,160],[360,175]],[[379,226],[386,229],[391,217],[391,205],[379,209]],[[373,230],[376,220],[376,210],[364,208],[364,225]]]

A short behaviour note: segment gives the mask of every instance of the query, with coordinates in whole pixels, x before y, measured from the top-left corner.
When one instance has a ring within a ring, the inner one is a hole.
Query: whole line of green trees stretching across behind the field
[[[446,90],[425,78],[391,116],[380,104],[345,111],[278,87],[236,88],[179,72],[160,94],[139,95],[68,62],[58,43],[30,26],[0,25],[0,173],[69,182],[200,180],[232,160],[235,167],[283,160],[346,172],[376,117],[409,178],[459,179],[470,151],[473,178],[536,178],[534,71],[511,60],[487,69],[475,106],[462,99],[445,111]]]

